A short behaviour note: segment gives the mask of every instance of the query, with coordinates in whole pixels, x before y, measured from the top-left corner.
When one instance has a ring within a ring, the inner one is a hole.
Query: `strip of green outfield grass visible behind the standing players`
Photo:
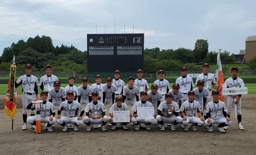
[[[61,84],[61,87],[66,87],[68,84]],[[81,84],[75,84],[75,86],[79,86],[79,85],[81,85]],[[91,84],[89,84],[90,86],[91,86]],[[127,85],[127,83],[126,83],[126,85]],[[151,84],[148,84],[149,85],[149,87],[151,87],[151,85],[152,85],[152,83]],[[170,87],[172,87],[172,85],[173,84],[170,84]],[[193,87],[193,89],[196,87],[196,84],[194,84],[195,86]],[[0,94],[1,95],[4,95],[4,94],[6,94],[6,92],[7,92],[7,87],[8,87],[8,84],[0,84]],[[247,84],[245,84],[245,87],[247,87],[248,88],[248,94],[256,94],[256,84],[249,84],[249,83],[247,83]],[[38,90],[39,90],[39,92],[38,93],[40,93],[41,92],[41,89],[40,89],[40,87],[38,86]],[[19,86],[18,87],[18,94],[22,94],[22,86]]]

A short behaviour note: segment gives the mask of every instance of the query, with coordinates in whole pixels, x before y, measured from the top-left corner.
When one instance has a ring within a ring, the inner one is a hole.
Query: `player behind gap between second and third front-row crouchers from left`
[[[87,105],[88,103],[91,102],[91,86],[88,85],[88,78],[87,77],[83,77],[81,84],[78,87],[78,102],[82,105],[83,103],[85,105]]]

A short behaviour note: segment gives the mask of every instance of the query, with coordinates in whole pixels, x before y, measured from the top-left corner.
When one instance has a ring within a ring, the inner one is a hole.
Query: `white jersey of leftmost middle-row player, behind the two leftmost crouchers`
[[[61,102],[63,102],[62,98],[65,98],[67,93],[63,87],[60,87],[58,92],[56,92],[55,89],[50,89],[48,96],[52,100],[52,104],[55,106],[56,104],[60,105]]]

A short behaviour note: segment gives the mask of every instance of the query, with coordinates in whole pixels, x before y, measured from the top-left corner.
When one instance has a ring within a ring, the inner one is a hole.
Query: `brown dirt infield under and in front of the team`
[[[242,125],[244,131],[238,130],[238,121],[231,113],[231,125],[227,133],[219,133],[214,127],[213,133],[208,133],[204,127],[192,128],[188,132],[176,126],[176,131],[170,131],[168,126],[164,132],[151,125],[151,131],[141,128],[134,130],[128,124],[128,131],[117,129],[101,131],[101,128],[86,132],[86,125],[79,126],[79,131],[73,129],[61,132],[62,126],[55,124],[53,133],[42,130],[41,134],[34,129],[22,131],[22,96],[17,97],[17,114],[14,118],[14,130],[11,130],[11,119],[5,114],[5,95],[0,95],[0,154],[1,155],[256,155],[256,95],[242,95]],[[129,105],[129,109],[132,107]],[[58,109],[59,106],[56,106]],[[83,108],[85,108],[83,106]],[[107,115],[110,105],[106,106]],[[56,117],[56,116],[55,116]]]

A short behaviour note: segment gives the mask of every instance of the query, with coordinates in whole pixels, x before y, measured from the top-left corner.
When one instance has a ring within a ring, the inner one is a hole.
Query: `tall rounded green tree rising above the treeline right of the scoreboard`
[[[202,60],[206,57],[208,53],[208,42],[207,40],[197,40],[195,44],[194,53],[196,54],[196,57],[202,62]]]

